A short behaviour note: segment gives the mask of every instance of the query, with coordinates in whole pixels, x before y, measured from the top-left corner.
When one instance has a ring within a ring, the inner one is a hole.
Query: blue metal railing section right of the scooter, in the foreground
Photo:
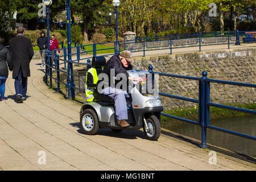
[[[224,133],[237,135],[239,137],[243,137],[243,138],[247,138],[247,139],[256,140],[256,137],[254,137],[254,136],[250,136],[250,135],[238,133],[235,131],[222,129],[220,127],[212,126],[212,125],[210,125],[210,122],[209,122],[209,116],[210,116],[209,107],[210,106],[220,107],[222,109],[240,111],[243,113],[256,114],[255,110],[248,110],[248,109],[243,109],[243,108],[239,108],[239,107],[232,107],[232,106],[215,104],[215,103],[210,102],[209,101],[210,100],[210,82],[216,82],[216,83],[228,84],[228,85],[246,86],[246,87],[251,87],[251,88],[256,88],[255,84],[247,84],[247,83],[224,81],[224,80],[214,80],[214,79],[207,78],[207,72],[202,72],[203,77],[189,77],[189,76],[180,76],[180,75],[172,75],[172,74],[168,74],[168,73],[154,72],[154,71],[152,71],[152,69],[153,69],[152,66],[148,67],[148,69],[152,74],[158,74],[159,76],[176,77],[176,78],[183,78],[183,79],[188,79],[188,80],[199,81],[199,99],[198,100],[195,100],[192,98],[187,98],[187,97],[174,96],[174,95],[171,95],[168,93],[159,93],[159,95],[199,104],[199,121],[191,121],[189,119],[176,117],[174,115],[170,115],[170,114],[166,114],[166,113],[161,113],[161,114],[166,117],[178,119],[180,121],[189,122],[189,123],[192,123],[195,125],[200,125],[201,126],[201,147],[202,148],[207,147],[207,139],[206,139],[207,128],[222,131]]]

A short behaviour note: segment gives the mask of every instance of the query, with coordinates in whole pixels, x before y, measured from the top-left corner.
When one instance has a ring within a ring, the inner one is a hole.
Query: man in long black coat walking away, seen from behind
[[[30,61],[34,55],[31,40],[24,37],[24,30],[23,27],[18,27],[16,37],[9,41],[17,103],[26,100],[27,77],[30,77]]]

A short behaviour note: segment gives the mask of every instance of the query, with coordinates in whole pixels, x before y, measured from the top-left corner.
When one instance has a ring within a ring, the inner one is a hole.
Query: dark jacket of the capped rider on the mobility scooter
[[[103,73],[106,73],[109,76],[109,86],[110,86],[111,80],[113,79],[113,78],[110,77],[110,69],[115,70],[115,76],[117,76],[118,73],[124,73],[127,77],[127,80],[128,80],[129,74],[127,73],[127,70],[133,69],[133,66],[130,64],[129,67],[125,68],[125,67],[123,67],[123,64],[121,62],[121,59],[120,59],[119,55],[112,56],[108,60],[108,62],[105,64],[105,67],[102,71]],[[115,85],[117,85],[117,83],[119,81],[120,80],[116,80]]]

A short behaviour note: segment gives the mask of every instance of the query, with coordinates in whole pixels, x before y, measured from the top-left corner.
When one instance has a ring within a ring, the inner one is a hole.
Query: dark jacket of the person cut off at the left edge
[[[13,70],[13,62],[11,61],[11,55],[8,51],[8,49],[0,44],[0,76],[8,76],[8,67],[10,71]]]

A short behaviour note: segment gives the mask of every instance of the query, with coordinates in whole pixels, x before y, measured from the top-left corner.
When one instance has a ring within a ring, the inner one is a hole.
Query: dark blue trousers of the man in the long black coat
[[[15,78],[14,87],[16,96],[20,95],[26,98],[27,94],[27,77],[23,77],[22,69],[19,69],[19,75]]]

